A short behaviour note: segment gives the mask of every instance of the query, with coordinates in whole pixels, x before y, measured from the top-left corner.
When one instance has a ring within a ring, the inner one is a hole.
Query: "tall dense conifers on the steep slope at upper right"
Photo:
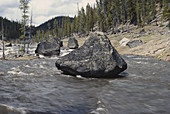
[[[127,22],[144,27],[154,20],[158,13],[162,13],[162,21],[170,17],[168,0],[96,0],[96,2],[96,7],[87,4],[86,12],[81,8],[75,17],[74,23],[79,23],[78,27],[75,27],[76,32],[93,30],[95,24],[103,32]]]

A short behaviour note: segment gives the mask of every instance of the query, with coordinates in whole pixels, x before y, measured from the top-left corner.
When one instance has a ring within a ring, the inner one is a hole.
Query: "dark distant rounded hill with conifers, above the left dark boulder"
[[[49,35],[57,37],[70,36],[72,22],[73,18],[68,16],[55,17],[36,27],[34,37],[36,40],[42,40],[48,38]]]

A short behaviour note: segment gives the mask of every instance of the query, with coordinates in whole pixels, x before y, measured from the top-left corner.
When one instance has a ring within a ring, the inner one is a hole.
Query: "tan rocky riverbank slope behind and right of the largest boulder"
[[[122,55],[152,56],[163,61],[170,61],[170,30],[168,27],[146,26],[144,31],[136,28],[131,32],[117,34],[107,34],[112,45]],[[88,37],[79,38],[75,36],[79,46],[88,39]],[[142,41],[139,46],[130,48],[126,43],[120,44],[122,39],[127,43],[134,40]],[[67,46],[68,39],[63,40],[63,45]]]

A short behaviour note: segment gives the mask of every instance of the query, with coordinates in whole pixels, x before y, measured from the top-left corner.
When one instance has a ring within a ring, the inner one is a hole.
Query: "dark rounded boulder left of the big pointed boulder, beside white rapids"
[[[49,37],[46,42],[40,42],[35,50],[36,54],[44,56],[53,56],[60,54],[60,40],[56,40],[56,37]]]

